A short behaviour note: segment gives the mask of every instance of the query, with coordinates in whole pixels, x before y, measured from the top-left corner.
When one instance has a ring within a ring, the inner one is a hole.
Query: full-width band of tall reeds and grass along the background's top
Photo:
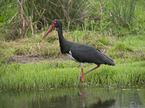
[[[144,32],[142,23],[144,9],[141,3],[144,2],[142,0],[12,0],[5,3],[5,0],[2,0],[1,31],[8,34],[4,36],[9,40],[31,37],[57,18],[61,19],[64,27],[70,30],[77,27],[82,30],[104,31],[110,35],[139,34]]]

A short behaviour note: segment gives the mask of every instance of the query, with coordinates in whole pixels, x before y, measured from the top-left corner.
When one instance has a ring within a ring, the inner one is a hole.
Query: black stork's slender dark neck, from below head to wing
[[[71,42],[64,39],[63,32],[62,32],[62,25],[57,27],[57,31],[58,31],[58,36],[59,36],[59,44],[60,44],[61,52],[68,53],[71,47]]]

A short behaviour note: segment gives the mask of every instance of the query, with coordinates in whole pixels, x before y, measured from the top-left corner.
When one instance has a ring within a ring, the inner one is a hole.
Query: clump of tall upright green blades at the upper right
[[[113,0],[110,18],[118,27],[131,27],[135,15],[136,0]]]

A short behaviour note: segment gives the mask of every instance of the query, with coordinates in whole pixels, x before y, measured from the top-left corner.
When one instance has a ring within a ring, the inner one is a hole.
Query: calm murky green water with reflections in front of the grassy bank
[[[0,108],[145,108],[145,90],[65,88],[0,92]]]

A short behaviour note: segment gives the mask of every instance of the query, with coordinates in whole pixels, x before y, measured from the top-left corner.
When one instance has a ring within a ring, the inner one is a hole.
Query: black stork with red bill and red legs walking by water
[[[44,39],[54,28],[56,28],[58,32],[61,53],[68,54],[71,59],[81,63],[82,75],[79,76],[78,80],[81,78],[82,83],[84,83],[84,75],[93,71],[94,69],[99,68],[101,64],[113,66],[115,65],[115,63],[110,57],[101,53],[95,47],[65,40],[62,32],[62,23],[58,19],[52,22],[52,25],[49,27],[48,31],[42,37],[42,39]],[[83,63],[95,63],[97,66],[84,73]]]

